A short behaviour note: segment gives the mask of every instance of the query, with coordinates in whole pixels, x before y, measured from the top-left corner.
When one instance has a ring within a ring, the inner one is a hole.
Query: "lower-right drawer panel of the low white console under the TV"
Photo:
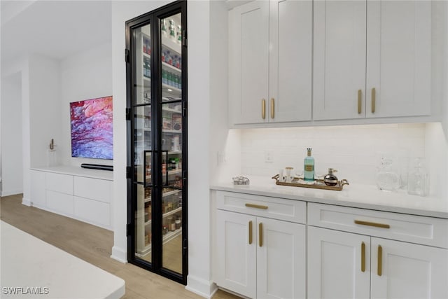
[[[111,211],[109,204],[83,197],[74,197],[74,214],[89,223],[111,225]]]

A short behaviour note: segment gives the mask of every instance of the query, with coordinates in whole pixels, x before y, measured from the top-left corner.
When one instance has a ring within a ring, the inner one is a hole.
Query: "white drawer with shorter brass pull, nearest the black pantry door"
[[[216,191],[216,207],[295,223],[307,222],[307,204],[300,200]]]

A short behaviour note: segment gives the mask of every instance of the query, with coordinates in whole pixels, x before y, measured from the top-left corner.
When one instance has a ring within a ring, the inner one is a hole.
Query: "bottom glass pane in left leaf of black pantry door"
[[[151,188],[137,187],[137,211],[135,212],[135,255],[151,262]]]

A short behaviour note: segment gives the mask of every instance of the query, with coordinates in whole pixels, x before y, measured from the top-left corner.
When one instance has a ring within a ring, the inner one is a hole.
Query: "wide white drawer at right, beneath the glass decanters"
[[[448,248],[448,220],[441,218],[310,202],[308,225]]]

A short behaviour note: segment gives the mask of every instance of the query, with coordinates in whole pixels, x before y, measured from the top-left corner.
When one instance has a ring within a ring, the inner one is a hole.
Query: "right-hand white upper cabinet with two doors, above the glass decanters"
[[[428,116],[430,1],[314,1],[314,120]]]

